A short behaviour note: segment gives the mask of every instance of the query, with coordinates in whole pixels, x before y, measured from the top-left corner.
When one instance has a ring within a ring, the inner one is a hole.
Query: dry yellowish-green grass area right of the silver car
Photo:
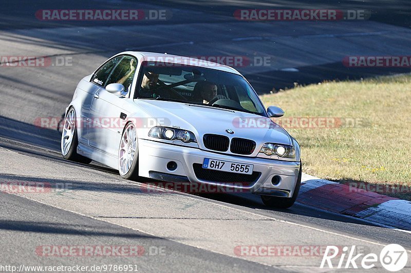
[[[363,121],[357,128],[287,129],[301,145],[304,172],[339,182],[411,185],[411,75],[323,82],[261,99],[281,107],[284,118]]]

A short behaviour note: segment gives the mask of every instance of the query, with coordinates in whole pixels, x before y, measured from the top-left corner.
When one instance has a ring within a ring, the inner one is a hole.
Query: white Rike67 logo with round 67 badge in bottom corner
[[[321,261],[320,268],[328,266],[329,268],[363,268],[370,269],[376,267],[376,263],[379,261],[381,265],[388,271],[395,272],[403,269],[408,261],[408,254],[404,247],[398,244],[386,245],[378,256],[375,253],[369,253],[364,255],[364,253],[357,254],[356,246],[353,245],[349,249],[348,246],[342,248],[342,253],[339,253],[341,247],[337,246],[327,246]],[[354,256],[354,254],[357,254]],[[363,256],[364,255],[364,256]],[[339,257],[338,264],[336,265],[332,259]],[[345,259],[345,257],[347,257]],[[361,267],[359,267],[361,266]]]

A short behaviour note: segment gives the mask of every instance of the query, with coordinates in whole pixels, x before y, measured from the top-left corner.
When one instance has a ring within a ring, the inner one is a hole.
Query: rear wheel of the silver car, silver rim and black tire
[[[64,118],[64,127],[61,135],[61,153],[67,160],[88,164],[91,162],[91,159],[77,153],[79,141],[76,121],[76,111],[73,107],[70,107]]]

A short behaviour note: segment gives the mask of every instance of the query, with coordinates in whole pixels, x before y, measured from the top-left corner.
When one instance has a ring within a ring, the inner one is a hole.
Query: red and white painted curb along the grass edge
[[[411,230],[411,202],[303,173],[298,203],[373,223]]]

